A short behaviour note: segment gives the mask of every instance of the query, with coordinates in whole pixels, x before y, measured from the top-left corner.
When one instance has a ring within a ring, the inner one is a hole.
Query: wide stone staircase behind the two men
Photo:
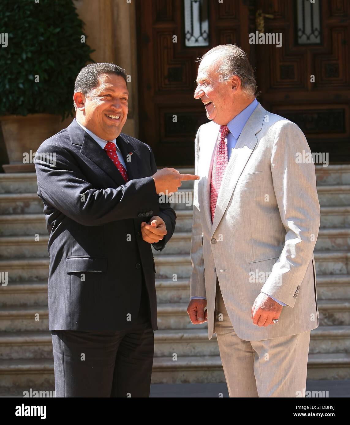
[[[181,172],[193,173],[193,169]],[[316,167],[321,228],[315,248],[320,326],[311,333],[308,378],[350,378],[350,165]],[[193,192],[186,182],[183,192]],[[48,329],[48,235],[35,173],[0,174],[0,394],[53,390]],[[158,327],[152,382],[222,382],[215,335],[189,323],[192,207],[174,204],[178,220],[155,253]],[[35,236],[39,240],[35,241]],[[173,275],[176,279],[173,280]]]

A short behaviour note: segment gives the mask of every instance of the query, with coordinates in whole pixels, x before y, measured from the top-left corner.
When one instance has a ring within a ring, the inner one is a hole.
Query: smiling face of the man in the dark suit
[[[128,116],[129,92],[120,75],[101,74],[98,86],[86,96],[74,94],[77,119],[96,136],[109,141],[116,139]]]

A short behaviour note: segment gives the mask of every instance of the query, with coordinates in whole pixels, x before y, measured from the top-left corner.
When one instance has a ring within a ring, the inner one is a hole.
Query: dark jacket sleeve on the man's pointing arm
[[[98,226],[138,218],[140,208],[153,210],[154,214],[159,212],[152,177],[130,180],[117,188],[96,189],[87,181],[69,150],[48,143],[42,144],[39,150],[55,153],[55,162],[52,165],[35,157],[38,195],[77,223]]]

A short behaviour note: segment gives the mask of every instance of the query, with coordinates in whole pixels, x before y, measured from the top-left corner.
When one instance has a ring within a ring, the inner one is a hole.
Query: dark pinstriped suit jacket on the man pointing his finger
[[[125,183],[107,153],[74,119],[37,150],[37,194],[49,232],[49,329],[124,330],[137,317],[142,275],[157,329],[155,263],[141,222],[159,215],[171,238],[176,215],[160,204],[151,148],[121,133]],[[128,153],[132,152],[127,161]],[[39,153],[52,153],[54,166]],[[131,318],[131,321],[130,321]]]

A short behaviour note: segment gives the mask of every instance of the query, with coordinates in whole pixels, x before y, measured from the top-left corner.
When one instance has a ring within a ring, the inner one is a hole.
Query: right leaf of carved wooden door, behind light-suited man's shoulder
[[[298,124],[313,153],[350,161],[350,2],[258,0],[265,34],[281,47],[252,45],[264,108]],[[320,158],[320,156],[318,156]]]

